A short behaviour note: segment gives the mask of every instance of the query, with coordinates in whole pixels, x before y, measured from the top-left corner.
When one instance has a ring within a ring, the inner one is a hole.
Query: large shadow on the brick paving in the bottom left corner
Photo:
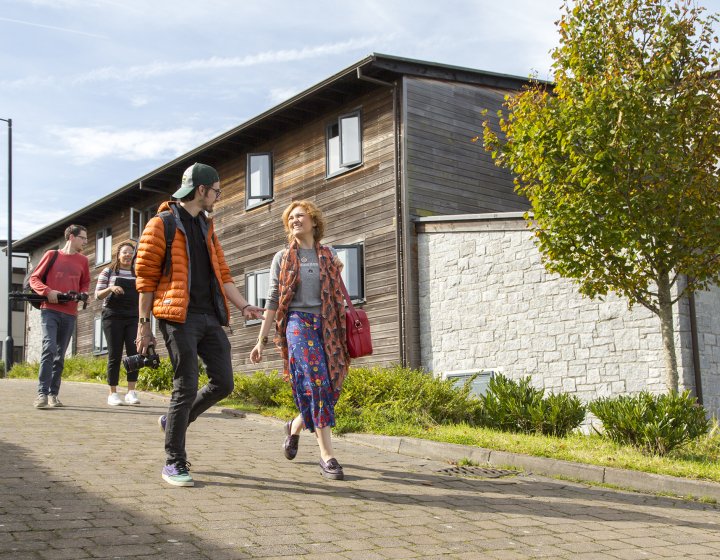
[[[172,515],[181,509],[188,491],[194,489],[163,487],[153,480],[152,485],[160,491],[150,498],[145,495],[141,503],[135,503],[131,493],[123,493],[120,487],[115,496],[106,499],[84,490],[69,475],[49,472],[33,460],[28,449],[2,437],[0,472],[2,559],[221,557],[220,547],[198,538],[196,532],[168,529],[164,516],[158,515],[158,510]],[[113,473],[107,476],[112,481]],[[238,521],[237,533],[242,534],[246,526]],[[230,542],[228,548],[232,548]],[[250,558],[251,554],[235,551],[230,556]]]

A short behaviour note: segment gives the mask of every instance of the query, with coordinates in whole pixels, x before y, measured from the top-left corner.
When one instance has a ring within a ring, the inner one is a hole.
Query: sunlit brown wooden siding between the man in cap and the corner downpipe
[[[359,109],[363,126],[363,165],[325,178],[325,127],[348,111]],[[272,152],[274,200],[245,210],[246,153],[220,165],[223,196],[215,213],[218,237],[238,288],[245,294],[245,274],[265,270],[285,244],[282,212],[293,200],[309,199],[323,211],[328,244],[363,243],[365,248],[364,309],[372,322],[374,354],[356,363],[387,364],[399,357],[395,215],[395,145],[392,95],[378,89],[291,133],[254,146],[248,152]],[[259,324],[245,326],[234,311],[230,342],[236,371],[281,369],[272,345],[260,365],[248,355]],[[274,333],[274,330],[272,331]]]

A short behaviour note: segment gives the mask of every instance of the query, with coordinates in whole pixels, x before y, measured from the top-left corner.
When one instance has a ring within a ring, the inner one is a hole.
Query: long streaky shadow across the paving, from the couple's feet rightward
[[[314,467],[309,461],[297,465]],[[606,490],[580,484],[568,484],[549,479],[536,480],[527,477],[507,479],[472,479],[440,475],[435,473],[408,472],[390,469],[373,469],[344,463],[345,481],[318,482],[283,481],[278,478],[254,476],[243,473],[220,471],[195,471],[208,477],[227,478],[225,481],[203,481],[207,486],[231,486],[255,489],[262,485],[264,490],[277,490],[304,495],[342,495],[358,501],[384,502],[387,504],[409,504],[421,502],[430,508],[464,510],[469,512],[517,513],[554,517],[568,521],[629,521],[646,524],[661,523],[678,527],[689,527],[720,531],[720,518],[716,523],[698,523],[676,519],[667,515],[655,515],[649,511],[631,511],[633,508],[668,508],[687,511],[719,510],[711,504],[685,502],[675,498],[648,496],[631,492]],[[319,470],[319,469],[318,469]],[[366,476],[363,476],[363,473]],[[367,487],[363,488],[363,483]],[[407,492],[382,490],[383,485],[407,485]],[[425,489],[435,489],[425,495]],[[560,497],[562,496],[562,498]],[[468,499],[471,498],[471,499]],[[554,507],[548,507],[553,504]]]

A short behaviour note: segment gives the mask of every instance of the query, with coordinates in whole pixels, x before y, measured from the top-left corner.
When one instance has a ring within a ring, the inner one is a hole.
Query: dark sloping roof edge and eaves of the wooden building
[[[193,162],[201,160],[209,165],[218,165],[288,129],[302,126],[321,112],[342,106],[353,97],[390,85],[403,75],[509,89],[519,89],[527,83],[526,78],[517,76],[373,53],[92,204],[16,241],[13,247],[26,252],[43,247],[61,238],[68,224],[91,224],[102,220],[118,207],[142,205],[148,190],[167,193],[169,198],[179,185],[183,171]]]

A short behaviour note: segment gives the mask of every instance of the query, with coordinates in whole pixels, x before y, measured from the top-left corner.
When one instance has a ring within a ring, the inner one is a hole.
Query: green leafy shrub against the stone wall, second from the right
[[[575,395],[553,394],[530,385],[530,376],[513,381],[495,375],[480,400],[480,424],[497,430],[564,437],[585,418],[585,405]]]

